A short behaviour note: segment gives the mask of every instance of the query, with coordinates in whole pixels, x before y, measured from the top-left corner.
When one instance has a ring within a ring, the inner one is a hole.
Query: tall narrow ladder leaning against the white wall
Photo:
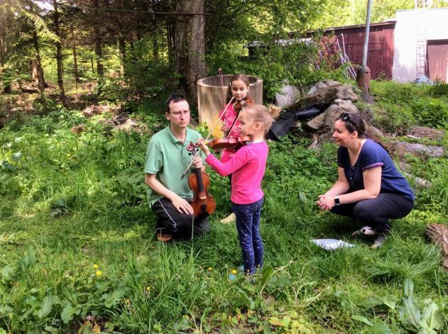
[[[415,0],[415,67],[417,79],[426,75],[426,18],[425,9],[429,8],[432,0]]]

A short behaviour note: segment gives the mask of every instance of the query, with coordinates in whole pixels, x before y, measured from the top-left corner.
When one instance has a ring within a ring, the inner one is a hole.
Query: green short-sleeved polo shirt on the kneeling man
[[[174,191],[182,199],[187,199],[187,201],[193,198],[193,192],[188,186],[188,177],[194,171],[194,168],[190,168],[190,173],[187,173],[182,181],[180,177],[192,160],[192,155],[189,155],[187,146],[190,142],[197,143],[199,138],[202,138],[200,133],[187,128],[185,142],[182,143],[175,138],[168,125],[153,135],[146,150],[145,172],[156,174],[156,178],[161,184]],[[205,155],[201,150],[200,155],[202,162],[204,162]],[[150,208],[155,201],[162,198],[151,188],[148,189],[147,196]]]

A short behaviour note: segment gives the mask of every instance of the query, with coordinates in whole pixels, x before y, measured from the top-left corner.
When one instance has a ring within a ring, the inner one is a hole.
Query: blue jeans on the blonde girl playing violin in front
[[[236,230],[243,255],[244,272],[253,274],[263,266],[263,241],[260,235],[260,214],[263,198],[251,204],[233,204]]]

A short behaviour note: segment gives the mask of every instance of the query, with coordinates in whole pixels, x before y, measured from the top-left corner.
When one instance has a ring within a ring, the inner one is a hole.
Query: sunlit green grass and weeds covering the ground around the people
[[[165,124],[155,105],[138,110],[150,127]],[[70,133],[79,123],[87,130]],[[371,250],[369,240],[351,237],[351,221],[315,205],[336,178],[336,147],[315,152],[293,136],[271,143],[261,218],[266,265],[251,282],[229,279],[241,254],[234,226],[219,223],[230,210],[228,180],[213,172],[211,233],[169,245],[155,240],[143,186],[149,139],[107,133],[59,106],[0,131],[4,332],[417,332],[423,325],[403,313],[410,301],[421,314],[437,307],[437,328],[448,329],[448,275],[423,238],[427,224],[447,221],[446,159],[410,158],[412,172],[432,187],[417,192],[415,210]],[[329,252],[313,238],[355,247]]]

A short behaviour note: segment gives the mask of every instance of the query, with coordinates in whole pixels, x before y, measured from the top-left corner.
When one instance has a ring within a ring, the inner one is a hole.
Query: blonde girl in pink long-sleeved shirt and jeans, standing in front
[[[268,145],[264,135],[273,123],[272,112],[261,104],[251,104],[239,114],[239,132],[250,135],[252,142],[237,150],[226,162],[217,160],[210,153],[204,140],[200,148],[205,161],[221,176],[232,174],[231,202],[236,215],[236,230],[246,274],[253,274],[263,266],[263,241],[260,235],[260,214],[263,206],[261,180],[266,169]]]

